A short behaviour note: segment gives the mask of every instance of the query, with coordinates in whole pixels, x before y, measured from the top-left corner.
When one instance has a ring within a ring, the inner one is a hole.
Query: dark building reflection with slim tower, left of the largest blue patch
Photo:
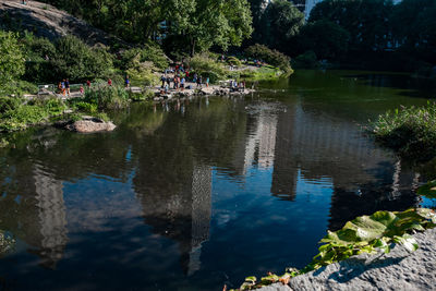
[[[135,183],[135,187],[145,222],[155,232],[179,242],[185,274],[198,270],[202,243],[209,238],[211,167],[194,166],[191,178],[183,185],[172,187],[174,193],[160,193],[158,187],[149,184]],[[155,195],[145,194],[146,189],[150,191],[149,187],[154,187]]]

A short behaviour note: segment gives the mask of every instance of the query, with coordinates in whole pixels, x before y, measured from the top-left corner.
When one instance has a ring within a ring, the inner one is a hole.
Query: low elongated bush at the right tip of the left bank
[[[245,54],[249,58],[263,60],[274,66],[279,68],[284,72],[291,71],[291,59],[278,50],[269,49],[264,45],[254,45],[245,49]]]

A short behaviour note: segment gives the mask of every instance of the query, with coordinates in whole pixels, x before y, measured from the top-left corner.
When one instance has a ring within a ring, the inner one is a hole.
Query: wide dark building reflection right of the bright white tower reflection
[[[330,228],[379,209],[411,207],[417,177],[362,136],[359,125],[304,111],[295,105],[278,118],[271,193],[293,201],[299,172],[334,184]]]

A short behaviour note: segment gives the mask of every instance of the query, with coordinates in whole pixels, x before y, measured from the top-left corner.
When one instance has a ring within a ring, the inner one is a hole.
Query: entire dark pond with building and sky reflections
[[[3,290],[222,290],[301,268],[327,230],[422,204],[367,136],[434,97],[391,73],[298,71],[246,97],[135,104],[112,133],[53,128],[0,149]]]

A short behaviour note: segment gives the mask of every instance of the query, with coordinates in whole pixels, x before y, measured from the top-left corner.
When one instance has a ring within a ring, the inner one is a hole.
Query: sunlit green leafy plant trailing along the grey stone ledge
[[[436,183],[433,185],[436,187]],[[311,264],[301,270],[287,268],[282,276],[268,274],[257,281],[256,277],[245,278],[239,290],[252,290],[275,282],[288,283],[295,276],[306,274],[323,266],[347,259],[363,253],[375,254],[378,251],[389,253],[396,244],[403,245],[410,252],[419,245],[411,235],[436,227],[436,214],[427,208],[412,208],[405,211],[377,211],[371,216],[361,216],[348,221],[338,231],[328,231],[320,240],[319,253]]]

